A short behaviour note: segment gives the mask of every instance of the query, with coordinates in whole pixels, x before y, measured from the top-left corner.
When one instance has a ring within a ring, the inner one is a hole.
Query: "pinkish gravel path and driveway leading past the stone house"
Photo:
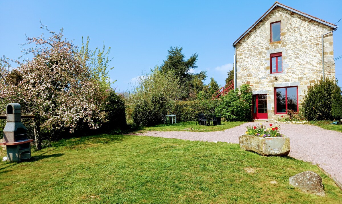
[[[246,132],[246,126],[253,124],[255,123],[244,123],[225,131],[208,133],[186,131],[149,131],[138,135],[177,138],[192,141],[222,141],[238,144],[238,137]],[[268,125],[269,122],[265,124]],[[319,164],[319,166],[326,172],[342,183],[342,133],[325,130],[314,125],[280,125],[280,133],[290,137],[290,157],[306,162],[312,162],[313,164]]]

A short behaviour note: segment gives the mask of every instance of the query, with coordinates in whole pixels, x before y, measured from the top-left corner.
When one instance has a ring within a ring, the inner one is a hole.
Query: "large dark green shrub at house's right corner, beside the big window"
[[[333,93],[337,88],[336,82],[329,78],[310,84],[302,103],[304,117],[307,120],[332,120]]]

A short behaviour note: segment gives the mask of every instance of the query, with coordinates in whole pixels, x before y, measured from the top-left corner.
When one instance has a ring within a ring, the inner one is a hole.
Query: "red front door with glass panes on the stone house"
[[[267,94],[253,95],[253,119],[267,119]]]

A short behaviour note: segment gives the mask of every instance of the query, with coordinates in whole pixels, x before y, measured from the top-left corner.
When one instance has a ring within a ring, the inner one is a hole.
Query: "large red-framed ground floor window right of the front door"
[[[298,111],[298,86],[274,88],[275,114]]]

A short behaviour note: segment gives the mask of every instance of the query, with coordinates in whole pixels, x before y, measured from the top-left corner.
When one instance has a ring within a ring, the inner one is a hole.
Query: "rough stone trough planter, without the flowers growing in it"
[[[287,156],[290,153],[290,138],[258,137],[254,135],[241,135],[239,137],[241,149],[256,152],[263,156]]]

